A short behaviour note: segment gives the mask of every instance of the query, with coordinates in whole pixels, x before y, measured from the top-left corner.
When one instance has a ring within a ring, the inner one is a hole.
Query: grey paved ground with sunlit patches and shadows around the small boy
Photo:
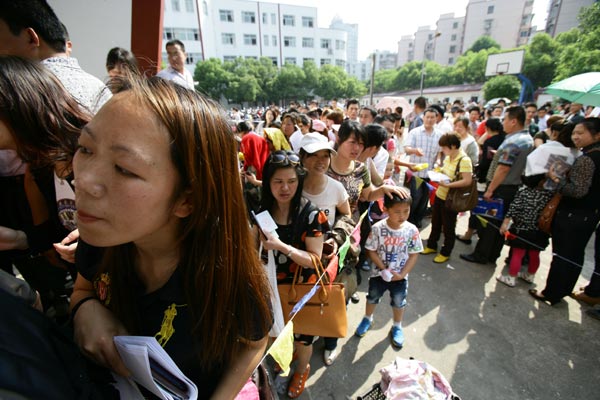
[[[459,218],[464,232],[467,217]],[[429,226],[422,231],[429,236]],[[322,361],[323,341],[315,344],[312,372],[300,399],[354,399],[380,380],[379,369],[395,357],[414,357],[436,367],[463,400],[470,399],[598,399],[600,382],[600,321],[585,314],[589,308],[566,298],[550,307],[527,294],[530,285],[516,288],[498,283],[502,269],[470,264],[459,258],[474,245],[457,242],[448,264],[420,256],[410,276],[405,312],[406,344],[390,345],[389,297],[375,312],[365,337],[353,336],[364,315],[367,283],[361,301],[348,308],[349,336],[341,339],[341,355],[330,367]],[[508,253],[505,247],[499,260]],[[577,287],[593,270],[593,237]],[[543,288],[551,253],[533,287]],[[285,398],[286,396],[282,396]]]

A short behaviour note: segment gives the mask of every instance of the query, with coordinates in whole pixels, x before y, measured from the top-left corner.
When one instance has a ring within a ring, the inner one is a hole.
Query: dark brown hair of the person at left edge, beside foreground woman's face
[[[91,116],[39,63],[0,56],[0,118],[13,132],[19,157],[37,169],[58,161],[71,165]]]

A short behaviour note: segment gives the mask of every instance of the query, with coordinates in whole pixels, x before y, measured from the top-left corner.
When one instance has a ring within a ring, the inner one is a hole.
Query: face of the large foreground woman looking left
[[[191,208],[176,199],[169,134],[131,94],[115,95],[83,128],[73,160],[78,227],[94,246],[159,246]],[[181,196],[183,197],[183,196]]]

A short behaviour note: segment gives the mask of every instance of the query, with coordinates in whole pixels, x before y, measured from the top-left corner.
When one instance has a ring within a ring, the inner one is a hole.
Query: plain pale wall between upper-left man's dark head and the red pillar
[[[106,54],[131,49],[131,0],[48,0],[67,27],[76,57],[86,72],[104,80]]]

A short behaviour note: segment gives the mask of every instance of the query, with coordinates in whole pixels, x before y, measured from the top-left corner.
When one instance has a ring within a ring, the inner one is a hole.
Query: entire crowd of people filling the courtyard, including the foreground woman
[[[12,290],[5,283],[18,272],[33,288],[23,305],[70,322],[102,398],[118,396],[108,371],[130,375],[117,335],[155,337],[200,398],[235,398],[274,339],[268,254],[277,284],[299,268],[300,281],[316,282],[314,257],[334,259],[341,245],[336,228],[352,236],[356,255],[345,260],[348,301],[361,300],[357,285],[369,273],[354,333],[367,334],[389,291],[396,348],[419,254],[446,263],[456,240],[477,237],[460,257],[482,264],[495,264],[508,244],[508,273],[497,280],[509,287],[534,282],[551,244],[545,288],[531,296],[600,304],[600,119],[582,104],[502,100],[483,109],[419,97],[405,113],[333,99],[227,113],[194,90],[178,40],[152,78],[131,52],[111,49],[102,82],[71,56],[67,29],[44,0],[0,5],[0,287]],[[504,212],[472,211],[457,235],[448,196],[473,180],[482,201]],[[544,232],[539,215],[556,194]],[[252,218],[261,212],[276,233]],[[594,232],[595,270],[576,289]],[[304,391],[316,340],[295,335],[290,398]],[[329,366],[341,350],[338,338],[323,340]]]

